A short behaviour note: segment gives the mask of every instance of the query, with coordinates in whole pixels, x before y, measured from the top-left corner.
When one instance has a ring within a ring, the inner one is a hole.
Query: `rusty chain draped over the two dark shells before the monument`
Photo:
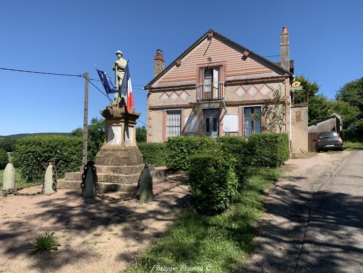
[[[137,181],[137,186],[133,192],[133,194],[131,195],[131,197],[129,198],[115,198],[109,195],[106,195],[103,191],[100,190],[100,186],[98,184],[98,177],[97,177],[97,172],[96,172],[96,167],[94,166],[94,162],[93,161],[88,161],[87,164],[83,167],[83,174],[82,174],[82,182],[81,182],[81,189],[82,189],[82,193],[84,192],[84,188],[85,188],[85,179],[86,179],[86,174],[89,168],[92,168],[92,175],[93,175],[93,183],[94,183],[94,187],[96,190],[96,196],[100,199],[103,200],[107,200],[107,201],[111,201],[111,202],[122,202],[122,201],[130,201],[132,199],[134,199],[136,197],[136,194],[138,193],[138,190],[140,188],[140,178]],[[167,191],[170,191],[171,189],[174,189],[178,186],[180,186],[181,183],[176,183],[175,185],[172,185],[171,187],[168,187],[166,189],[163,189],[157,193],[152,194],[153,197],[156,197],[158,195],[160,195],[161,193],[165,193]]]

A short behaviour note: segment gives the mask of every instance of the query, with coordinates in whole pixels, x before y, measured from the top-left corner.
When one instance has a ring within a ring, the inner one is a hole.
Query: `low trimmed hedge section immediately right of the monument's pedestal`
[[[137,143],[145,164],[165,166],[165,143]]]

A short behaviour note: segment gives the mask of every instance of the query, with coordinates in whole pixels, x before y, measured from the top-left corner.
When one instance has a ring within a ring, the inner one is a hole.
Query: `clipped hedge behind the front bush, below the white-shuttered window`
[[[197,152],[210,150],[216,146],[210,137],[176,136],[166,141],[165,163],[172,171],[187,171],[190,157]]]

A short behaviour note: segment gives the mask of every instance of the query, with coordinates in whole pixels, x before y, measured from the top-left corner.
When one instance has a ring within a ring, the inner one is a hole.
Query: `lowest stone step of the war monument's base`
[[[166,181],[177,181],[180,175],[171,175],[167,177],[158,177],[152,179],[152,184],[157,185]],[[98,182],[101,191],[104,192],[123,192],[124,194],[133,192],[137,186],[136,183],[112,183],[112,182]],[[81,190],[81,180],[67,180],[58,179],[57,189],[70,189],[70,190]]]

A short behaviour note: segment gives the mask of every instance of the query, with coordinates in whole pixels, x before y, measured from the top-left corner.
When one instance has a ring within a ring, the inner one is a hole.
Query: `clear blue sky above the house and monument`
[[[362,10],[358,0],[2,0],[0,67],[89,71],[98,79],[96,64],[113,78],[120,49],[130,60],[135,108],[146,123],[146,91],[140,89],[152,79],[156,49],[163,50],[167,65],[213,29],[262,56],[279,55],[286,25],[295,74],[316,80],[324,95],[334,97],[363,76]],[[83,78],[0,70],[0,135],[81,127],[84,84]],[[107,104],[90,85],[89,120],[101,117]]]

